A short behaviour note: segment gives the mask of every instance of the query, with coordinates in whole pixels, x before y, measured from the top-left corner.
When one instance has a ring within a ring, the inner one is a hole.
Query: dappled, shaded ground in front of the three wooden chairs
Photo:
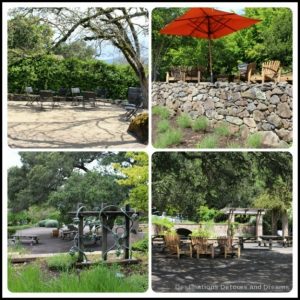
[[[248,247],[248,245],[247,245]],[[196,258],[153,251],[155,292],[288,292],[292,289],[292,248],[253,245],[241,258]]]

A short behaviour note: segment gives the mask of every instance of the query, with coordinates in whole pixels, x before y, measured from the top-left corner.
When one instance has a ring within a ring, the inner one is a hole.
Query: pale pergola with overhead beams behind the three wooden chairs
[[[233,208],[225,207],[221,209],[224,214],[228,215],[228,223],[234,222],[235,215],[251,215],[256,216],[256,227],[255,235],[256,237],[263,235],[263,216],[266,213],[265,208]]]

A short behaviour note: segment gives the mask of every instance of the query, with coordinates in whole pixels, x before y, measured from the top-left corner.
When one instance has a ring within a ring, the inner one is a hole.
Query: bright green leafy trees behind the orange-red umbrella
[[[152,79],[164,80],[171,66],[202,66],[208,73],[208,42],[192,37],[159,33],[166,24],[182,15],[184,8],[156,8],[152,12]],[[280,60],[292,66],[292,12],[288,8],[245,8],[246,17],[261,22],[223,38],[213,40],[215,74],[234,74],[239,63]],[[207,74],[206,74],[207,75]]]

